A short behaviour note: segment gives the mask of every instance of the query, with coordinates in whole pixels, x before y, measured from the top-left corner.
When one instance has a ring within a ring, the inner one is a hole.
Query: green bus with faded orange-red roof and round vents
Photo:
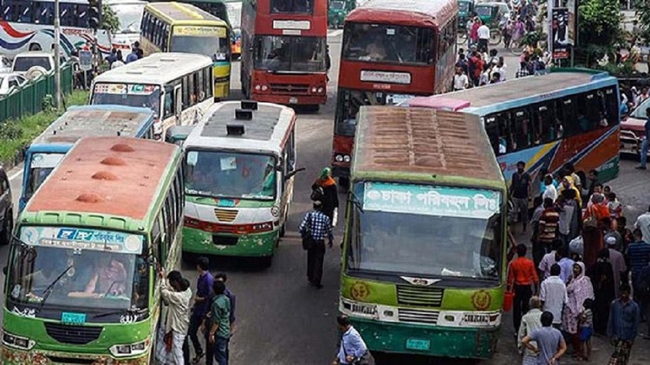
[[[5,268],[0,362],[152,364],[158,270],[179,268],[182,152],[79,140],[21,212]]]

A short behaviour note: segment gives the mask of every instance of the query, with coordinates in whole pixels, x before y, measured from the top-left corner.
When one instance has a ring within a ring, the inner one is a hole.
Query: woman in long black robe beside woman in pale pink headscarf
[[[609,249],[598,253],[598,260],[587,270],[587,276],[593,284],[593,331],[604,334],[607,331],[610,304],[616,299],[614,291],[614,269],[609,260]]]

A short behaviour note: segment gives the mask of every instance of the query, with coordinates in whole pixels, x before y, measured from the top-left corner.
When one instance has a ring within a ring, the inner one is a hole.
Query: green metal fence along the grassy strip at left
[[[61,67],[61,89],[64,95],[72,94],[72,67]],[[54,73],[47,73],[27,82],[18,91],[0,99],[0,122],[36,114],[43,109],[45,95],[54,95]],[[55,99],[55,98],[54,98]]]

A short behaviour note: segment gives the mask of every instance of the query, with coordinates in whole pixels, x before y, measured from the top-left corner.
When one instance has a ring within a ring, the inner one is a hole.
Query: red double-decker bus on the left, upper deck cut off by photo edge
[[[242,92],[285,105],[327,100],[328,0],[244,0]]]

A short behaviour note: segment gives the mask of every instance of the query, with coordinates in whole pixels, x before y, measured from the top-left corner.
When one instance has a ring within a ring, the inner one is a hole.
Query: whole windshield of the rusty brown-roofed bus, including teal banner
[[[500,194],[427,188],[366,188],[352,218],[348,270],[499,279]]]

